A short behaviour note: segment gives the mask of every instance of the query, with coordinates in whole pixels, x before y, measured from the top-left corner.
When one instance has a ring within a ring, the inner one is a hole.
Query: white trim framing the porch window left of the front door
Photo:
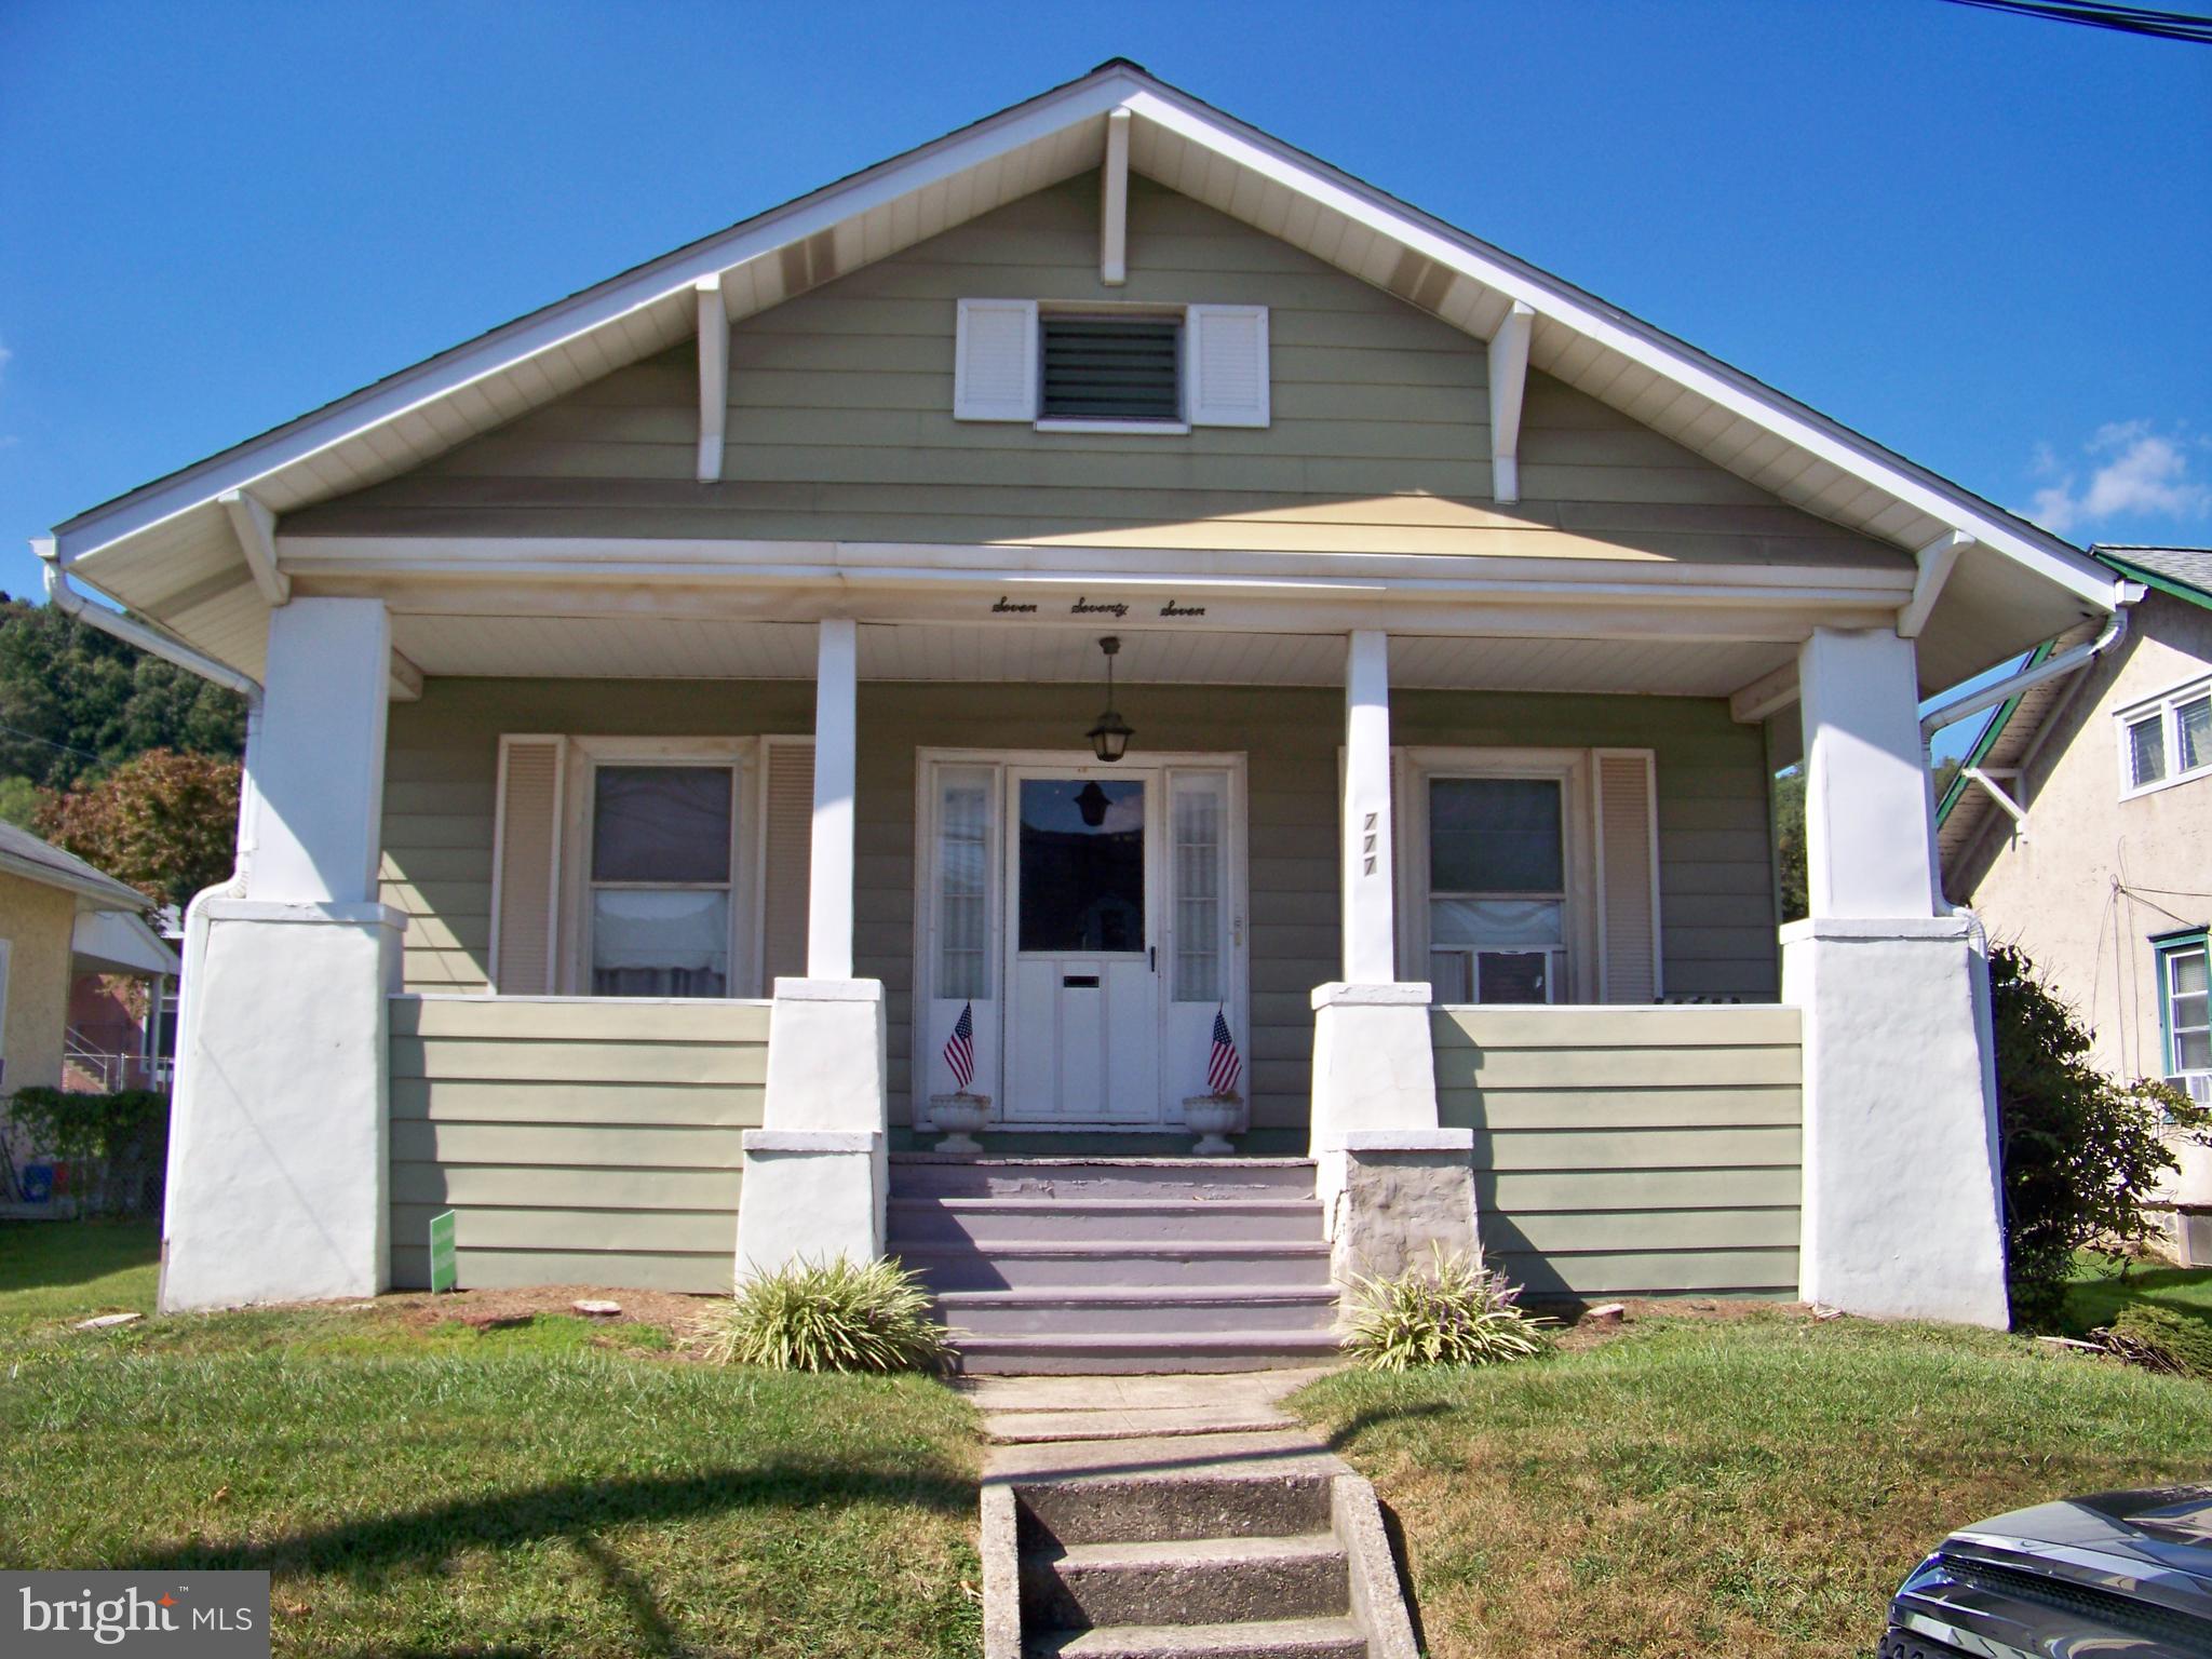
[[[571,737],[560,854],[560,951],[555,982],[562,995],[591,991],[591,818],[602,765],[728,765],[730,790],[730,984],[723,1002],[761,995],[761,743],[759,737]],[[599,998],[628,1002],[633,998]],[[653,1000],[653,998],[644,998]],[[701,1000],[701,998],[690,998]]]

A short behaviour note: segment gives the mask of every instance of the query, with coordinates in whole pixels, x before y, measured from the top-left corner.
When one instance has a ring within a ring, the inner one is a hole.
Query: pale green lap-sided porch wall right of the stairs
[[[1794,1296],[1796,1009],[1438,1009],[1491,1261],[1535,1296]]]

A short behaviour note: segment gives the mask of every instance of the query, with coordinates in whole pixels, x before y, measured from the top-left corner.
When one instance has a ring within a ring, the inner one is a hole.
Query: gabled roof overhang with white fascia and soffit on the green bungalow
[[[688,338],[695,285],[732,321],[1099,166],[1108,113],[1130,166],[1489,338],[1535,312],[1531,365],[1785,502],[1911,555],[1951,533],[1922,635],[1924,679],[1962,679],[2110,608],[2079,549],[1938,478],[1573,283],[1110,60],[1082,80],[854,173],[376,380],[58,529],[60,555],[108,595],[159,608],[201,650],[259,672],[265,602],[219,498],[276,515],[422,465],[626,363]]]

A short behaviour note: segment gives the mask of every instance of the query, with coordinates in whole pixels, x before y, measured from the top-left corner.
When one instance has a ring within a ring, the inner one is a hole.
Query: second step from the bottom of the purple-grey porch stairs
[[[1126,1336],[1130,1340],[1197,1334],[1327,1332],[1336,1323],[1336,1287],[1206,1285],[1197,1290],[951,1290],[938,1294],[938,1316],[975,1336]],[[964,1352],[973,1340],[960,1340]]]

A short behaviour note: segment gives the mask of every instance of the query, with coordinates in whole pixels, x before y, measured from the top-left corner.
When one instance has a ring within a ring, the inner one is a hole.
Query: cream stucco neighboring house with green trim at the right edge
[[[2203,1102],[2212,549],[2095,553],[2141,597],[2097,661],[1991,710],[1938,807],[1944,891],[2081,1011],[2097,1064],[2172,1077]],[[2090,633],[2084,624],[2057,648]],[[2177,1243],[2212,1263],[2212,1150],[2177,1152]]]

